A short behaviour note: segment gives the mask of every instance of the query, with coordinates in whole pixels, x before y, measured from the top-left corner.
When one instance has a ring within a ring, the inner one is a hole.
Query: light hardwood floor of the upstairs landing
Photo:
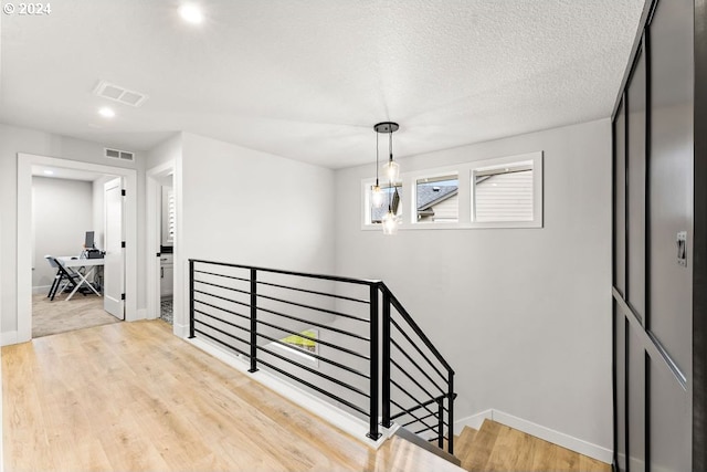
[[[458,471],[374,451],[171,335],[119,323],[2,348],[8,471]]]

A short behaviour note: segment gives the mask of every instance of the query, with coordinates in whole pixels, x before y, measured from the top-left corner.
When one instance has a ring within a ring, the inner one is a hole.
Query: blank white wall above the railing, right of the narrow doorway
[[[189,259],[334,272],[333,170],[188,133],[181,147],[175,170],[177,333],[187,325]]]

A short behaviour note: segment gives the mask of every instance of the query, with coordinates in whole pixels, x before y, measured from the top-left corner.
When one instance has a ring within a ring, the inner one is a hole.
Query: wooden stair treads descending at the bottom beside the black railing
[[[478,431],[465,427],[454,450],[469,472],[611,471],[609,464],[492,420],[484,420]]]

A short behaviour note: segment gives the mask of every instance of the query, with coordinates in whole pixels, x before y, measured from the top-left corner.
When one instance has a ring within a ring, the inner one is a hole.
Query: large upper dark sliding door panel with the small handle
[[[693,240],[694,67],[685,53],[693,43],[692,11],[692,0],[661,0],[648,51],[650,327],[684,373],[692,370],[693,279],[688,265],[677,261],[677,239],[684,232],[688,244]]]

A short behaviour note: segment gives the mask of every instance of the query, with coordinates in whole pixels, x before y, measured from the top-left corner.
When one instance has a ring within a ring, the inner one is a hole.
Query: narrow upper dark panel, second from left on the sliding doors
[[[639,51],[637,60],[629,82],[627,143],[629,148],[629,305],[643,321],[645,317],[645,129],[646,129],[646,71],[645,55]]]

